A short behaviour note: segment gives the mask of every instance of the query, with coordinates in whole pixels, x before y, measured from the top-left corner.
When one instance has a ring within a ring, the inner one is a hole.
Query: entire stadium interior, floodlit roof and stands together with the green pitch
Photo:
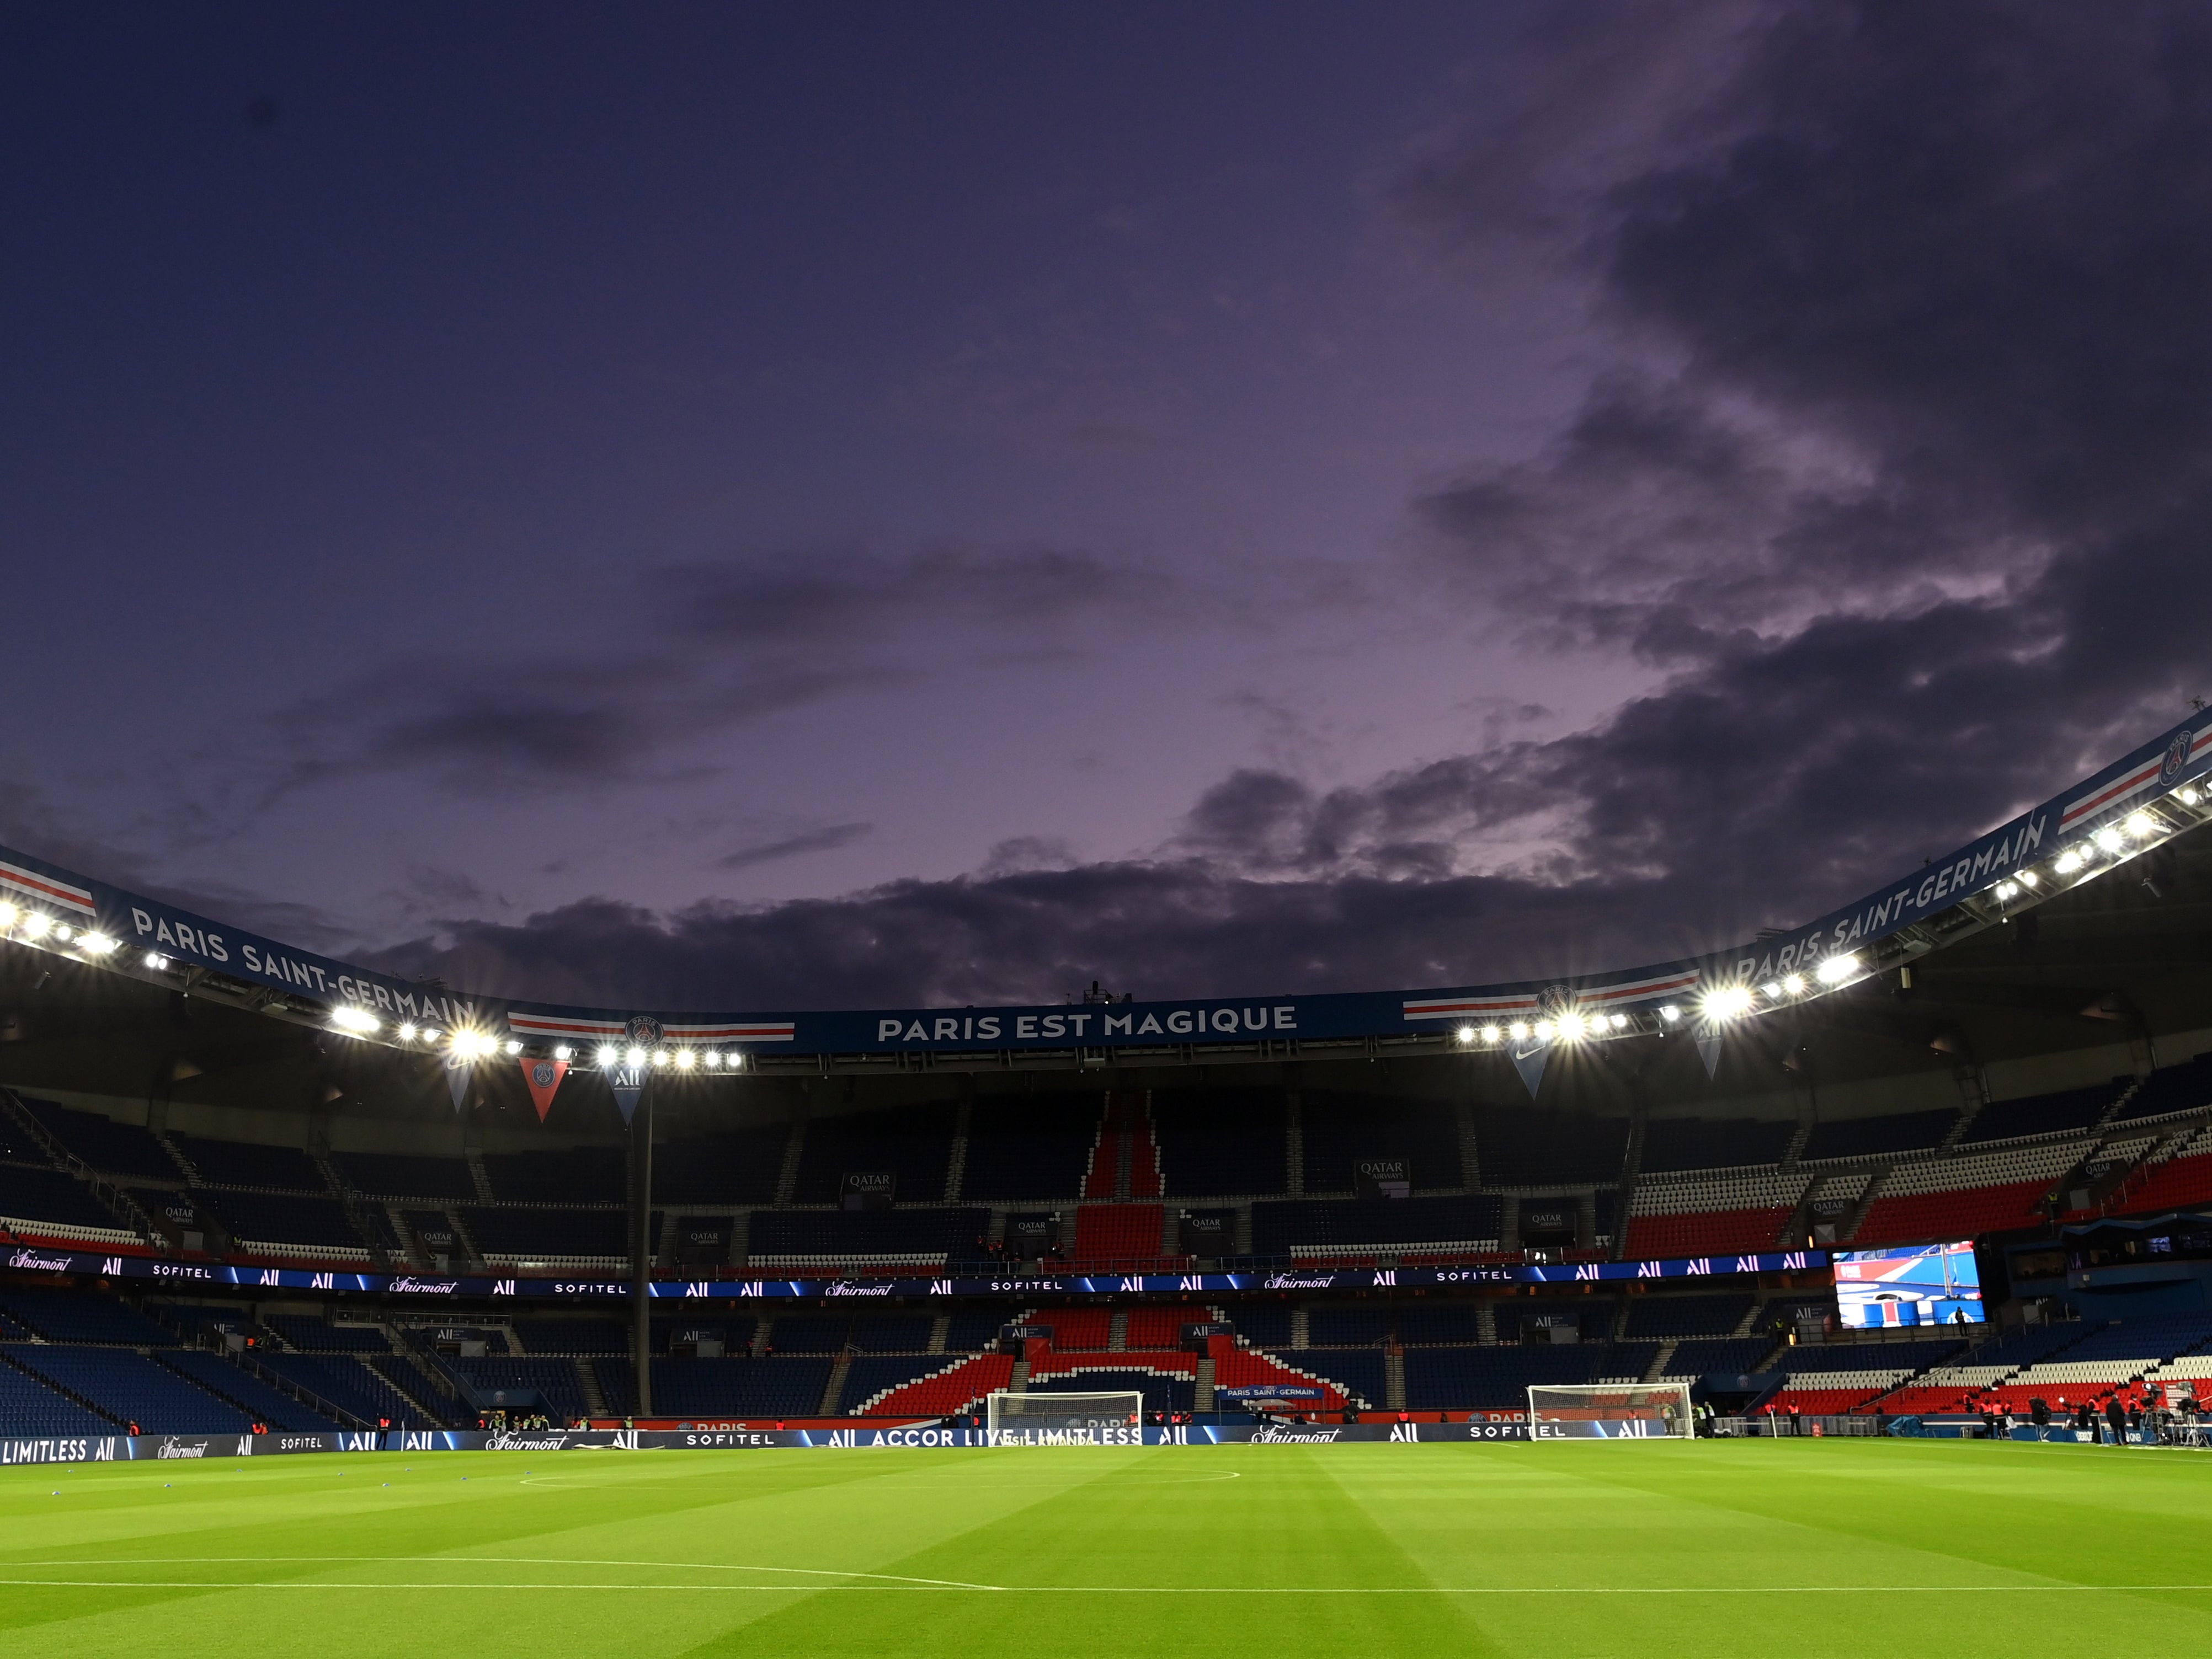
[[[0,1577],[75,1652],[2170,1639],[2208,770],[1697,960],[1026,1009],[504,1002],[4,854]]]

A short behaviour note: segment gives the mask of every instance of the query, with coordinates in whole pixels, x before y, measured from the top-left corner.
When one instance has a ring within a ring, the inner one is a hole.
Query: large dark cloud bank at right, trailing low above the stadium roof
[[[577,905],[394,960],[670,1006],[1617,967],[1818,914],[2185,712],[2212,13],[1564,9],[1520,86],[1391,201],[1484,292],[1577,285],[1604,361],[1546,445],[1420,504],[1433,577],[1648,692],[1360,785],[1237,772],[1146,860]]]

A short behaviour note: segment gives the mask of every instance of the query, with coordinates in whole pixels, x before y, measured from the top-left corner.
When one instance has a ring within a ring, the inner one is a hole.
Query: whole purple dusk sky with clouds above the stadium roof
[[[2199,4],[18,7],[0,841],[484,993],[1809,918],[2212,695]]]

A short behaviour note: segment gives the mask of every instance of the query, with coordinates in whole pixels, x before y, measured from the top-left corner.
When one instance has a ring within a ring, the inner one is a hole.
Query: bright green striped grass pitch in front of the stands
[[[0,1652],[2132,1657],[2212,1646],[2208,1520],[1907,1440],[7,1469]]]

